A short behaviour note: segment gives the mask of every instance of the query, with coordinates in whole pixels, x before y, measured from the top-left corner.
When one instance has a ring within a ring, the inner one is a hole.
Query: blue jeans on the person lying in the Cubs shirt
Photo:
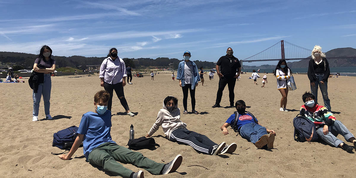
[[[263,135],[267,134],[265,127],[258,125],[256,123],[248,123],[240,128],[240,135],[242,138],[247,139],[248,141],[255,144]]]

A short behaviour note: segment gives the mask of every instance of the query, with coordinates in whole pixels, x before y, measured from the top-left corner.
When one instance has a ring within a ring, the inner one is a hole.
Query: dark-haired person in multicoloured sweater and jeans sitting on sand
[[[341,134],[345,140],[354,143],[356,149],[355,137],[347,130],[346,126],[341,121],[336,120],[334,115],[324,106],[314,103],[315,96],[312,93],[305,92],[302,98],[305,104],[300,108],[300,115],[314,122],[318,136],[329,145],[340,147],[352,153],[352,146],[346,145],[346,143],[336,138],[338,134]]]

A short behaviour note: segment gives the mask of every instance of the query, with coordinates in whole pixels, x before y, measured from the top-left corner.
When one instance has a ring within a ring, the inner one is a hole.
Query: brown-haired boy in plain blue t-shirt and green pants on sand
[[[130,163],[146,169],[151,174],[161,175],[176,171],[182,163],[182,156],[177,155],[173,161],[162,164],[144,157],[140,152],[117,145],[111,140],[111,111],[107,110],[110,94],[101,90],[94,96],[94,112],[83,114],[78,128],[78,137],[67,155],[59,155],[63,160],[70,159],[83,142],[84,156],[90,164],[103,167],[113,176],[124,178],[143,178],[143,171],[132,172],[119,162]]]

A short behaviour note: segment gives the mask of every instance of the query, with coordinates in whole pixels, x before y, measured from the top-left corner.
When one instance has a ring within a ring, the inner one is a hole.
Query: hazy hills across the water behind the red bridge
[[[330,67],[356,67],[356,49],[355,48],[336,48],[331,49],[325,53],[326,59],[328,57],[355,57],[352,59],[328,59]],[[309,56],[310,57],[310,56]],[[276,64],[278,62],[276,61]],[[304,68],[308,67],[309,59],[304,59],[295,62],[287,62],[289,68]],[[275,65],[262,65],[262,66],[244,66],[244,69],[274,69]]]

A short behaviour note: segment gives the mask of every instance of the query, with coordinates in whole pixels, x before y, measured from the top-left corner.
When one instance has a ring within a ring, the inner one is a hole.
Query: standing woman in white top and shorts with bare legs
[[[277,78],[277,89],[279,92],[281,92],[282,95],[281,107],[279,108],[280,111],[288,111],[286,109],[288,96],[287,81],[290,78],[291,72],[292,71],[287,66],[286,60],[279,60],[276,67],[276,72],[273,75]]]

